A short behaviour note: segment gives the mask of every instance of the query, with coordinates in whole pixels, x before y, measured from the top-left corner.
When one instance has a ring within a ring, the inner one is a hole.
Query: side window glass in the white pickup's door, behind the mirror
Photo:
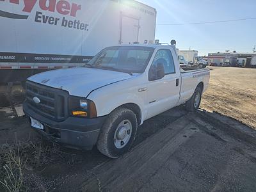
[[[157,51],[152,65],[157,65],[157,63],[163,63],[166,75],[175,73],[172,52],[169,49],[161,49]]]

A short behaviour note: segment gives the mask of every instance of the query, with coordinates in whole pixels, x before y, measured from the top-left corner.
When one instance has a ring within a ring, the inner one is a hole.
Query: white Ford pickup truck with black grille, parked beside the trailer
[[[107,47],[84,67],[29,77],[23,109],[49,140],[116,158],[148,118],[180,104],[196,111],[209,74],[181,69],[174,45]]]

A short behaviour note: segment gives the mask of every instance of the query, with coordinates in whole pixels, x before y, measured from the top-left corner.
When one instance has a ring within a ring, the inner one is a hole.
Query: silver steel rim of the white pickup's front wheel
[[[129,120],[123,120],[118,124],[115,135],[114,135],[114,144],[116,148],[123,148],[129,140],[131,139],[132,134],[132,124]]]

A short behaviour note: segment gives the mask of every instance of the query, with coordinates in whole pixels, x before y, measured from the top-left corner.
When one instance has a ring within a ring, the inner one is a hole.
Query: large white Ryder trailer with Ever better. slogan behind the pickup
[[[154,42],[156,10],[133,0],[1,0],[0,25],[0,92],[15,95],[38,72],[79,67],[111,45]]]

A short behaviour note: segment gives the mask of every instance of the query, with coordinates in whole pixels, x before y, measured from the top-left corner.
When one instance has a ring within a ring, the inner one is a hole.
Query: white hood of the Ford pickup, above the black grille
[[[28,80],[66,90],[70,95],[87,97],[97,88],[132,77],[123,72],[79,67],[43,72],[29,77]]]

